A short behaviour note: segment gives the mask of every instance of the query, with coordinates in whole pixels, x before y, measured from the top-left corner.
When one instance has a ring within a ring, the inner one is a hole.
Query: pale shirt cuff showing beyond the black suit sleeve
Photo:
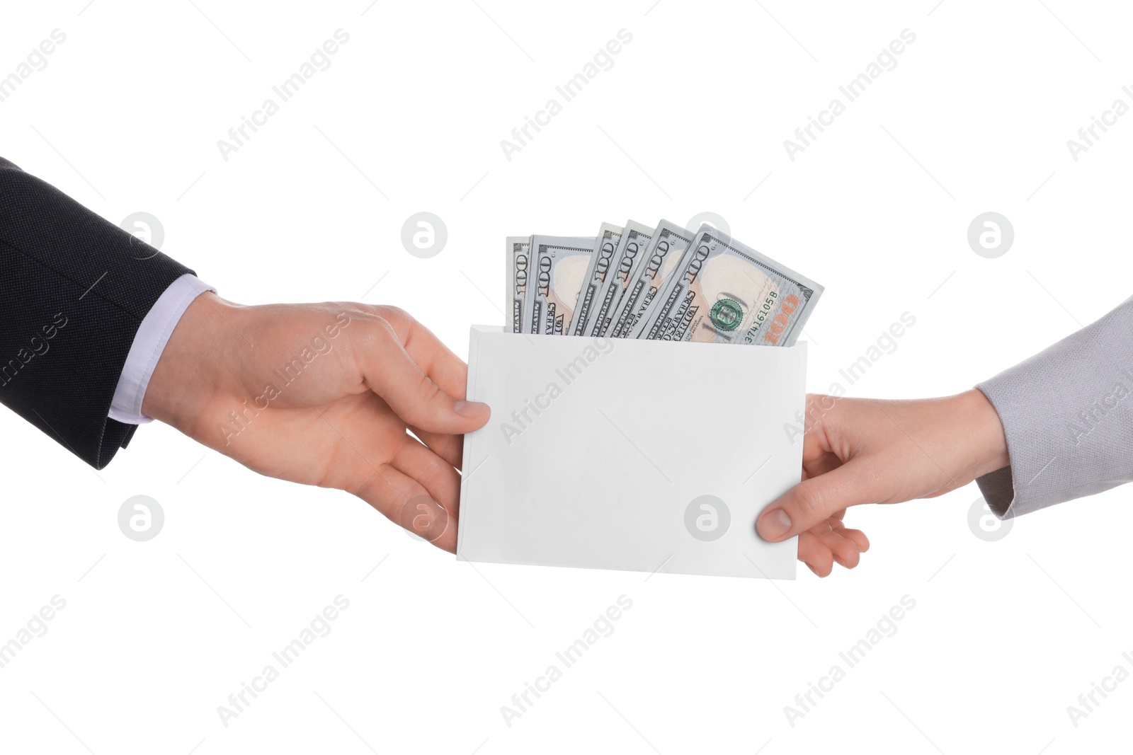
[[[205,291],[215,290],[197,276],[186,273],[157,297],[157,301],[142,320],[130,352],[126,355],[126,366],[122,367],[114,397],[110,402],[110,419],[127,424],[153,421],[152,417],[142,413],[142,400],[145,398],[145,389],[161,352],[165,350],[169,336],[193,300]]]

